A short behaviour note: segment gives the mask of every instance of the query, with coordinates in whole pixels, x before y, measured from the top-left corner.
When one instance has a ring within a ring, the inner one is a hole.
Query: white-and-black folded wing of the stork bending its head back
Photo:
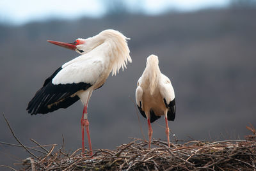
[[[97,59],[77,61],[58,68],[29,101],[28,112],[47,114],[69,107],[79,100],[77,91],[86,90],[95,84],[103,70],[102,61]]]

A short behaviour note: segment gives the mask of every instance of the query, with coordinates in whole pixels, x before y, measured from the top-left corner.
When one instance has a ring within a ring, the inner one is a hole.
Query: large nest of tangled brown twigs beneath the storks
[[[189,141],[171,144],[134,139],[115,150],[97,149],[91,157],[77,149],[65,154],[61,149],[40,158],[28,158],[22,170],[256,170],[256,141]]]

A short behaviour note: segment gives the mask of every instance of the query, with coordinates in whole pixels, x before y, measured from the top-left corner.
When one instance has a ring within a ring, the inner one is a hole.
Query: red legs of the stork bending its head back
[[[88,114],[87,114],[87,105],[84,105],[83,116],[81,118],[81,127],[82,127],[82,153],[84,154],[84,126],[86,127],[86,132],[88,136],[88,144],[90,149],[90,155],[92,156],[92,144],[90,138],[89,131],[89,122],[88,122]]]

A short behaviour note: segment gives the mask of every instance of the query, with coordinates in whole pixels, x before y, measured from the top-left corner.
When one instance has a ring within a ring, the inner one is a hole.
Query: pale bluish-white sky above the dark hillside
[[[106,13],[104,0],[1,0],[0,22],[25,24],[31,20],[76,19],[77,17],[101,17]],[[194,11],[202,8],[227,6],[229,0],[127,0],[129,9],[157,15],[166,10]]]

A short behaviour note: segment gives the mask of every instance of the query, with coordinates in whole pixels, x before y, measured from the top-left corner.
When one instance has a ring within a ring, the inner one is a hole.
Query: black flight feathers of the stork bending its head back
[[[61,67],[58,68],[51,77],[47,78],[43,87],[39,89],[32,100],[29,101],[27,110],[31,115],[47,114],[59,108],[67,108],[79,100],[79,97],[75,95],[77,91],[86,90],[92,86],[84,82],[77,84],[52,84],[52,78],[54,78],[61,69]]]

